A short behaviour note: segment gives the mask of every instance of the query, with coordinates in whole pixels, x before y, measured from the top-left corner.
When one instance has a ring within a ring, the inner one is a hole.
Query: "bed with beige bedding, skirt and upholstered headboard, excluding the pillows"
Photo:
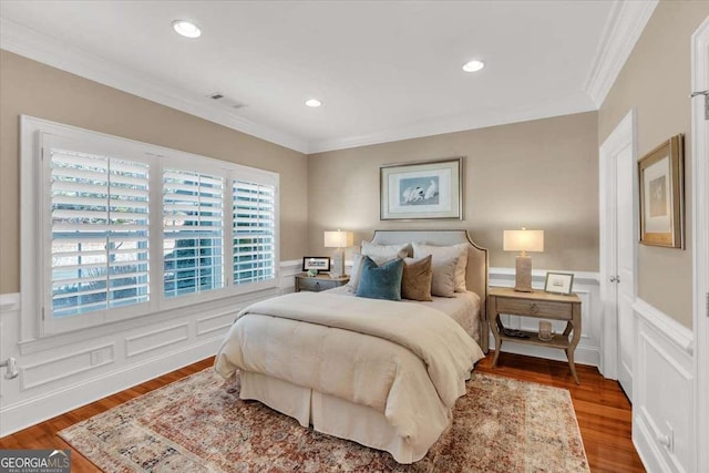
[[[242,399],[304,426],[387,451],[399,463],[422,459],[487,351],[487,250],[465,230],[377,230],[371,245],[414,241],[464,244],[467,291],[392,302],[342,287],[257,302],[225,338],[217,372],[239,370]]]

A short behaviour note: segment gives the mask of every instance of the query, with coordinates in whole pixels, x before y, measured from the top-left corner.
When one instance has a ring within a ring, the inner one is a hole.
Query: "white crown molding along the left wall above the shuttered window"
[[[218,105],[203,103],[202,96],[194,96],[184,90],[166,86],[144,74],[119,66],[101,56],[56,41],[4,18],[0,18],[0,49],[270,143],[300,153],[308,152],[306,140],[234,115],[220,110]]]

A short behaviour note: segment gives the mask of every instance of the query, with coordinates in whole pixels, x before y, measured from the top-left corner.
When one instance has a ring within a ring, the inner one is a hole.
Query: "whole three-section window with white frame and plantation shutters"
[[[278,174],[31,117],[22,142],[40,335],[277,286]]]

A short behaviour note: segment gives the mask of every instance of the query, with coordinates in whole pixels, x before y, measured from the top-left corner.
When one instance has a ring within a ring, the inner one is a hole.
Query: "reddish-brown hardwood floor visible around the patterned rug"
[[[524,381],[568,389],[592,472],[644,472],[643,463],[630,440],[630,403],[616,381],[604,379],[596,368],[576,366],[580,385],[576,385],[568,366],[541,358],[501,353],[497,368],[491,368],[492,356],[477,363],[477,370]],[[125,391],[101,399],[83,408],[50,419],[0,439],[0,449],[71,449],[56,432],[92,415],[107,411],[141,394],[201,371],[213,358],[164,374]],[[94,472],[96,467],[72,449],[72,472]]]

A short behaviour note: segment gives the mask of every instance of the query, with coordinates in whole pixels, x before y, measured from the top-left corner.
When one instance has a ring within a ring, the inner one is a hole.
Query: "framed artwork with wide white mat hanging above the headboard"
[[[379,168],[380,219],[463,219],[463,158],[387,164]]]

